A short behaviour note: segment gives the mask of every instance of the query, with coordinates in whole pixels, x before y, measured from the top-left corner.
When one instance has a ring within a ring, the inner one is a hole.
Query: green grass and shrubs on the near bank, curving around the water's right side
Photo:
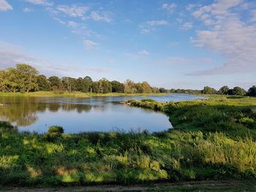
[[[148,183],[152,181],[256,179],[256,99],[217,96],[160,103],[129,101],[161,110],[172,130],[18,133],[0,123],[3,186]]]

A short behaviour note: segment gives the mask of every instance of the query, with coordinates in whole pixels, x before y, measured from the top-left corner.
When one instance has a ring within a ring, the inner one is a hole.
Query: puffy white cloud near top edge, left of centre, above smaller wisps
[[[71,6],[59,5],[56,9],[60,12],[64,12],[66,15],[69,15],[69,17],[84,18],[89,7],[80,4],[72,4]]]

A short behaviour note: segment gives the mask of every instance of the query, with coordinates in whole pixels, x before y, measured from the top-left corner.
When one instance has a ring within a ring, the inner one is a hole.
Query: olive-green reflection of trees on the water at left
[[[8,120],[17,126],[29,126],[38,120],[37,112],[58,112],[59,110],[78,113],[89,112],[91,105],[45,102],[36,97],[0,97],[0,119]]]

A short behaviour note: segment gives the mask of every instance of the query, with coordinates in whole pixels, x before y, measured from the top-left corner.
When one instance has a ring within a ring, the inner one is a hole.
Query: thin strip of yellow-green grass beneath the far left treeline
[[[91,96],[155,96],[166,95],[166,93],[83,93],[73,91],[71,93],[65,91],[63,93],[55,93],[53,91],[37,91],[29,93],[10,93],[0,92],[0,96],[67,96],[67,97],[91,97]]]

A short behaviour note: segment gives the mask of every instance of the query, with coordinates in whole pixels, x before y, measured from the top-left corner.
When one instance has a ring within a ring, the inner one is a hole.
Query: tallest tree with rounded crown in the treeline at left
[[[17,64],[18,80],[20,84],[20,91],[29,93],[29,91],[37,91],[37,69],[28,64]]]

